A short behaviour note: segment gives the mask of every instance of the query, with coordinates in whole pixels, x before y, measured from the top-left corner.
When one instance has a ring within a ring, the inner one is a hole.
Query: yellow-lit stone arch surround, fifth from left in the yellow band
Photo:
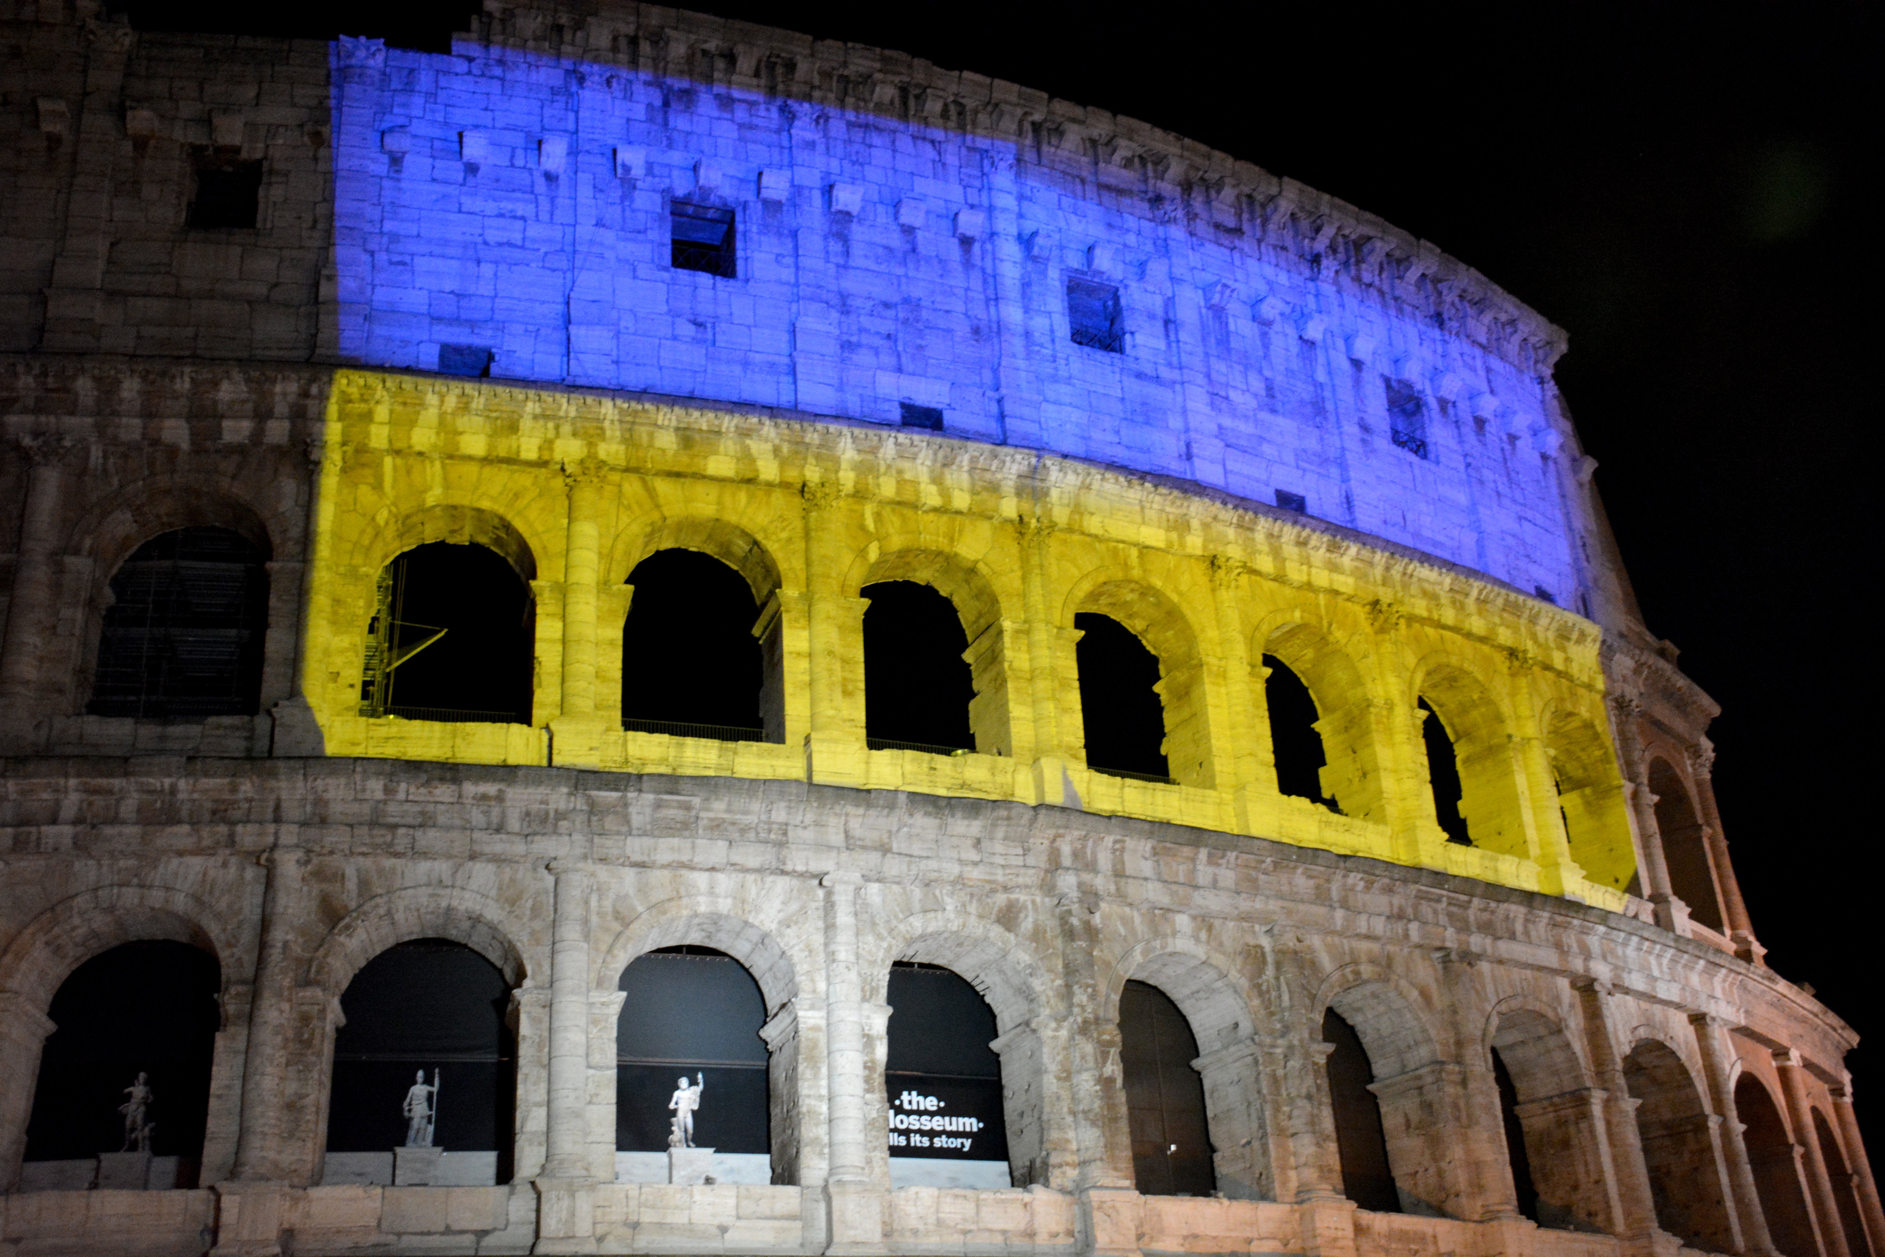
[[[1369,684],[1353,656],[1327,631],[1295,618],[1257,629],[1250,658],[1261,663],[1265,654],[1287,663],[1316,699],[1316,731],[1327,758],[1323,793],[1348,816],[1384,820],[1380,731]],[[1263,692],[1261,684],[1254,688]]]

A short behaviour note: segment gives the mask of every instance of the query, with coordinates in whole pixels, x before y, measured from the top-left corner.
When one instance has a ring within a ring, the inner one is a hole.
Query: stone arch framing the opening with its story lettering
[[[1001,1106],[1008,1127],[1008,1174],[1016,1187],[1056,1185],[1067,1144],[1065,1118],[1052,1076],[1052,1059],[1061,1055],[1057,1037],[1044,1020],[1057,1012],[1048,999],[1048,978],[1041,959],[1014,935],[993,922],[967,912],[918,912],[890,925],[865,969],[865,1001],[884,1004],[892,961],[941,965],[967,980],[995,1012],[995,1040],[1001,1057]],[[878,1038],[871,1076],[882,1074],[888,1035]],[[886,1146],[888,1112],[884,1097],[873,1097],[871,1142]]]

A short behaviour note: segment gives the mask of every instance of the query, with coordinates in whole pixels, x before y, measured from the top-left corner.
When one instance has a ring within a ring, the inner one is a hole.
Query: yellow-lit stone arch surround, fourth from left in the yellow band
[[[1080,612],[1112,616],[1159,661],[1156,686],[1165,710],[1165,759],[1182,786],[1210,788],[1216,776],[1210,746],[1210,712],[1205,656],[1197,629],[1180,599],[1139,577],[1091,573],[1065,601],[1061,624],[1073,628]]]

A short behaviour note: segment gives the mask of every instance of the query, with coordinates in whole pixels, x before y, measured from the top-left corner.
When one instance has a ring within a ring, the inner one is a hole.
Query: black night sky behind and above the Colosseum
[[[1566,328],[1557,379],[1644,614],[1723,705],[1715,782],[1755,931],[1874,1033],[1876,891],[1847,854],[1877,771],[1857,645],[1876,6],[690,8],[1144,119],[1419,234]],[[147,28],[437,51],[467,6],[222,11],[132,6]]]

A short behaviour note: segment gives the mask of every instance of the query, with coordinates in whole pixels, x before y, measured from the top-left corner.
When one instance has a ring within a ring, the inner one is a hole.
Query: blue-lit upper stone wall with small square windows
[[[1353,283],[1314,224],[1225,226],[967,128],[466,41],[337,43],[334,126],[347,360],[469,345],[503,379],[937,407],[956,437],[1295,494],[1578,607],[1555,334],[1480,343],[1470,292]],[[669,264],[677,196],[737,213],[737,277]],[[1120,290],[1123,352],[1073,343],[1069,277]]]

